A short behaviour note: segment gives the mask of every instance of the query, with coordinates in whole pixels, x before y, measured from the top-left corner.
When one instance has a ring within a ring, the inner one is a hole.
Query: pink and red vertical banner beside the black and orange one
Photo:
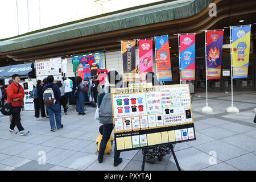
[[[139,79],[146,81],[146,74],[153,71],[153,40],[141,39],[138,41],[139,49]]]

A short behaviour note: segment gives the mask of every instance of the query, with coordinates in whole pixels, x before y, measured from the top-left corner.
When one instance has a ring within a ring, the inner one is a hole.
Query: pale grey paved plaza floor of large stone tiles
[[[175,144],[175,154],[182,170],[245,171],[256,170],[256,124],[253,123],[256,92],[234,93],[234,106],[240,113],[226,113],[230,94],[208,93],[213,113],[201,113],[205,93],[192,94],[196,140]],[[95,140],[100,123],[94,120],[95,108],[86,107],[86,115],[69,110],[62,113],[64,128],[50,131],[48,118],[35,118],[34,111],[22,111],[26,136],[9,133],[9,116],[0,115],[0,170],[69,171],[115,170],[140,171],[142,151],[121,152],[123,162],[113,166],[113,152],[98,163]],[[17,129],[15,129],[17,130]],[[112,134],[114,136],[114,134]],[[42,156],[46,154],[46,164]],[[172,155],[145,170],[176,171]]]

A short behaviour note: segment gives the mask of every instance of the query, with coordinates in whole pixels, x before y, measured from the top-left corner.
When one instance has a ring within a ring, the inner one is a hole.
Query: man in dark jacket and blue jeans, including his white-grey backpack
[[[49,113],[49,122],[51,125],[51,131],[56,131],[57,129],[63,129],[61,124],[61,114],[60,114],[60,89],[57,84],[53,84],[54,77],[52,75],[47,77],[47,84],[43,86],[43,101],[46,105],[46,109]],[[55,115],[55,119],[54,119]],[[56,120],[56,125],[55,125]]]

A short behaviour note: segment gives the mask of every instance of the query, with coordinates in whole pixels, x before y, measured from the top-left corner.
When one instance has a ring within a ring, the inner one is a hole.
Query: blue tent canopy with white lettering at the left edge
[[[0,79],[11,78],[14,74],[18,74],[21,78],[28,77],[28,73],[32,71],[32,63],[16,64],[7,67],[0,67]]]

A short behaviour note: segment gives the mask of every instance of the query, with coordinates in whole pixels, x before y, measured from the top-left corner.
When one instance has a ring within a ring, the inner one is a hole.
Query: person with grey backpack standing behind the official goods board
[[[98,108],[99,108],[99,119],[100,123],[103,124],[103,136],[100,144],[100,151],[98,152],[98,162],[103,162],[103,156],[106,149],[106,145],[109,141],[110,135],[113,131],[113,112],[112,112],[112,98],[110,89],[118,88],[118,82],[120,80],[117,71],[110,71],[108,73],[109,86],[106,86],[100,91],[98,97]],[[117,151],[117,146],[115,144],[114,149],[114,166],[118,166],[122,163],[122,158],[120,158],[120,152]]]

